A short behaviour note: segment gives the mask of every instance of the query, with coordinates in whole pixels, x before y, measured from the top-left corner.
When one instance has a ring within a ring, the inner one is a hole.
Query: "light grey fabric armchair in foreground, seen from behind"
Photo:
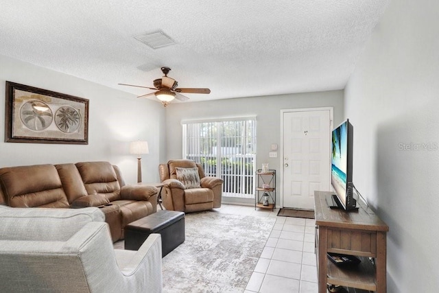
[[[161,292],[161,236],[113,249],[97,208],[0,205],[0,292]]]

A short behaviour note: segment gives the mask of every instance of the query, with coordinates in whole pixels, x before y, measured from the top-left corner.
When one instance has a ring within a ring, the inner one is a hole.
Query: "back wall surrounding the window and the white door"
[[[266,97],[244,97],[221,99],[209,102],[174,103],[167,107],[166,136],[167,159],[182,157],[182,126],[185,119],[206,119],[217,117],[257,117],[257,167],[269,163],[276,169],[277,191],[281,185],[281,110],[294,108],[333,107],[334,125],[340,124],[343,117],[343,91],[324,91],[318,93],[296,93]],[[278,144],[278,157],[270,158],[270,146]],[[279,192],[276,194],[279,203]],[[254,204],[254,200],[247,202]]]

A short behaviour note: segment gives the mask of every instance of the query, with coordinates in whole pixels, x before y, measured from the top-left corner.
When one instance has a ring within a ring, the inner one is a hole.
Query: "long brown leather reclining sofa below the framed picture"
[[[113,242],[130,222],[157,211],[156,187],[126,185],[108,162],[0,168],[0,204],[10,207],[99,207]]]

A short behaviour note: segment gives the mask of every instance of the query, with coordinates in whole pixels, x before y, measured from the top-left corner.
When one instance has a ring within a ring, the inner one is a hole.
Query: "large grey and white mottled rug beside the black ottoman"
[[[185,216],[186,240],[163,257],[163,292],[244,292],[275,218]]]

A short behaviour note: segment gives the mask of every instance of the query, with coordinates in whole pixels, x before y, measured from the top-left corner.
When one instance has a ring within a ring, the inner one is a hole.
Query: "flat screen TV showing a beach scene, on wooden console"
[[[331,185],[335,194],[327,199],[331,208],[357,209],[353,198],[353,126],[346,119],[332,131]]]

